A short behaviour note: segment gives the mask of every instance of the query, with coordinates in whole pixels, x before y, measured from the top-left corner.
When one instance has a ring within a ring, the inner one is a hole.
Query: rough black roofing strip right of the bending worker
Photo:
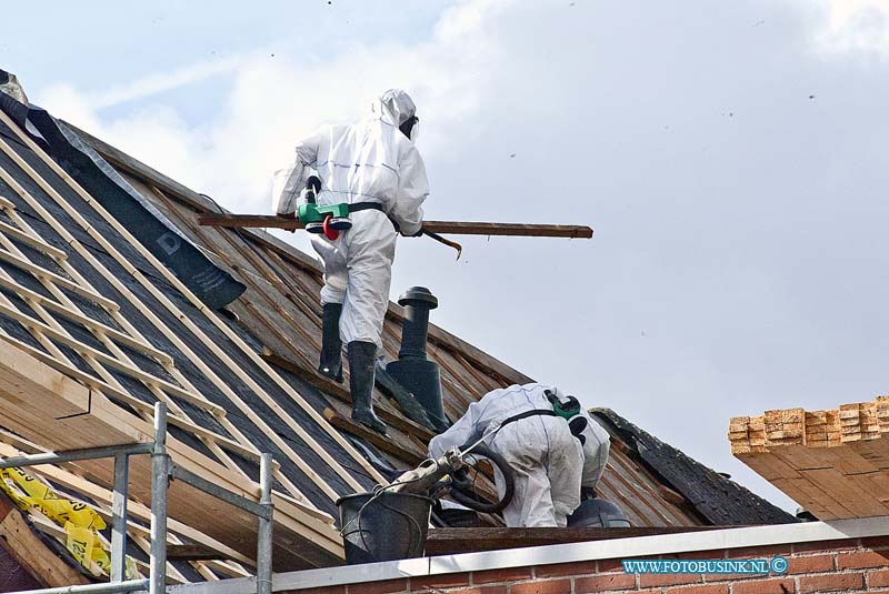
[[[670,444],[633,425],[610,409],[591,411],[605,420],[666,484],[685,496],[715,525],[787,524],[797,519],[726,479]]]

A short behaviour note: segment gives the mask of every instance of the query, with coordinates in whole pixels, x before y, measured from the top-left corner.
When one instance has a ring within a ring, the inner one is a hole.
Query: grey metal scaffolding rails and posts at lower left
[[[129,459],[131,455],[151,455],[151,551],[149,576],[126,580],[127,558],[127,499]],[[177,466],[167,454],[167,404],[154,404],[154,441],[88,447],[64,452],[49,452],[0,460],[0,469],[59,464],[78,460],[114,459],[114,491],[111,501],[111,572],[110,582],[80,586],[29,590],[19,594],[106,594],[141,592],[162,594],[167,588],[167,487],[170,480],[182,481],[259,519],[257,544],[257,594],[271,594],[272,514],[271,500],[272,456],[262,454],[259,465],[259,503],[221,489],[220,486]]]

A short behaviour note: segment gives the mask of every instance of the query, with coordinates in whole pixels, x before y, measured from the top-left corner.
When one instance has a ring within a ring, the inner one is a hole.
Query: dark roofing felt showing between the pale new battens
[[[2,123],[0,123],[0,134],[4,138],[13,140],[14,134]],[[117,231],[114,231],[108,223],[106,223],[99,214],[87,205],[83,200],[77,195],[73,190],[63,181],[61,180],[51,169],[49,169],[46,163],[43,163],[37,154],[34,154],[30,149],[22,145],[20,142],[14,141],[10,142],[10,145],[13,150],[21,155],[31,167],[33,167],[39,174],[49,182],[59,194],[67,201],[69,201],[72,205],[77,208],[77,210],[89,221],[91,225],[93,225],[104,239],[107,239],[116,249],[118,249],[139,271],[141,271],[146,278],[151,281],[151,283],[160,290],[164,294],[167,299],[172,301],[176,306],[184,313],[184,315],[193,322],[197,326],[201,329],[203,333],[206,333],[214,343],[217,344],[227,344],[228,339],[224,334],[212,323],[207,320],[207,318],[198,311],[182,294],[179,293],[178,290],[172,288],[166,280],[159,278],[158,273],[154,271],[153,266],[146,261],[129,244],[127,240],[124,240]],[[229,369],[227,364],[220,361],[209,349],[207,349],[190,331],[188,331],[182,323],[177,320],[177,318],[171,314],[146,288],[139,284],[132,275],[127,273],[123,268],[113,258],[111,258],[108,253],[104,252],[101,246],[99,246],[92,238],[90,238],[86,231],[83,231],[61,208],[59,208],[56,202],[48,197],[43,190],[34,183],[23,171],[21,171],[16,163],[10,160],[4,154],[0,153],[0,165],[4,170],[7,170],[19,183],[21,183],[26,190],[34,197],[48,211],[50,211],[64,228],[71,232],[80,242],[82,242],[91,252],[92,254],[114,275],[120,282],[122,282],[127,288],[134,293],[137,300],[140,302],[141,306],[149,309],[154,315],[157,315],[161,322],[172,330],[176,335],[184,342],[192,352],[201,359],[210,369],[212,369],[220,379],[230,386],[236,393],[240,395],[240,397],[259,415],[261,416],[270,426],[271,429],[280,435],[283,440],[288,442],[288,444],[312,467],[320,476],[324,479],[324,481],[334,490],[337,493],[341,495],[350,494],[353,492],[353,489],[348,486],[344,481],[337,475],[332,469],[330,469],[318,455],[316,451],[309,447],[301,439],[299,439],[294,432],[288,427],[283,421],[279,420],[277,415],[260,400],[260,397],[250,390],[248,385],[244,384],[236,373]],[[312,483],[312,481],[302,472],[300,471],[294,463],[290,462],[287,456],[283,455],[282,452],[271,442],[268,435],[266,435],[258,426],[256,426],[247,416],[232,403],[228,400],[228,397],[219,391],[211,383],[211,381],[207,377],[207,375],[201,372],[193,362],[187,358],[182,352],[180,352],[129,300],[124,299],[108,281],[106,281],[100,274],[96,272],[96,270],[76,251],[71,250],[70,246],[62,240],[61,236],[56,233],[51,226],[49,226],[42,219],[28,207],[26,202],[23,202],[18,194],[8,185],[3,184],[0,181],[0,194],[11,200],[17,208],[17,211],[20,215],[27,219],[28,223],[34,228],[34,230],[40,233],[41,238],[44,241],[49,242],[52,245],[59,246],[68,252],[68,262],[77,269],[92,285],[93,288],[101,293],[102,295],[112,299],[120,305],[121,314],[133,325],[136,326],[142,335],[148,339],[156,348],[160,349],[163,352],[169,353],[174,362],[177,369],[186,376],[188,380],[202,393],[204,394],[210,401],[214,402],[223,406],[227,411],[228,419],[240,430],[242,431],[251,442],[262,452],[272,452],[274,454],[276,461],[281,464],[281,469],[287,476],[309,497],[312,503],[318,505],[321,510],[324,510],[330,513],[334,513],[336,509],[333,503],[330,499],[324,495],[318,487]],[[40,265],[44,265],[48,270],[51,270],[60,275],[64,276],[64,272],[51,260],[44,258],[43,254],[39,254],[33,250],[26,250],[22,246],[22,251],[27,252],[29,258],[33,258],[36,263]],[[46,291],[39,283],[34,282],[31,275],[17,266],[9,264],[7,262],[0,262],[0,266],[3,270],[8,271],[17,282],[32,289],[34,291],[39,291],[46,294]],[[89,303],[83,298],[79,295],[73,295],[66,292],[72,301],[74,301],[79,306],[82,306],[82,310],[86,314],[94,318],[97,321],[100,321],[111,328],[119,329],[119,325],[114,322],[114,320],[109,316],[101,308],[98,308],[91,303]],[[7,292],[8,296],[13,296],[11,293]],[[28,306],[18,298],[13,299],[16,305],[20,308],[22,311],[29,313],[30,315],[36,314],[28,309]],[[94,349],[106,351],[104,346],[94,339],[94,336],[87,331],[80,324],[72,322],[70,320],[64,320],[59,318],[59,322],[64,325],[64,328],[79,341],[88,344]],[[260,342],[257,341],[253,336],[251,336],[243,328],[239,326],[234,322],[227,322],[229,325],[242,338],[247,341],[254,349],[259,349]],[[28,333],[21,324],[18,322],[0,315],[0,325],[4,330],[7,330],[10,334],[14,338],[27,342],[28,344],[43,350],[39,343],[37,343],[30,333]],[[82,358],[78,356],[73,351],[68,348],[63,348],[63,345],[59,345],[60,349],[66,352],[66,354],[70,355],[70,359],[74,365],[77,365],[81,371],[86,373],[90,373],[94,375],[94,372],[91,368],[82,360]],[[262,370],[260,370],[256,363],[253,363],[244,353],[242,353],[239,349],[226,349],[227,354],[234,361],[234,363],[242,369],[250,377],[252,377],[262,389],[268,393],[281,407],[283,407],[287,413],[296,420],[312,437],[318,442],[319,446],[322,447],[324,451],[329,452],[336,460],[340,461],[347,470],[351,472],[351,474],[366,487],[370,489],[373,486],[374,481],[367,476],[367,473],[361,469],[357,463],[350,464],[350,456],[346,453],[344,450],[321,427],[318,425],[317,422],[311,420],[303,411],[280,386],[278,386]],[[152,374],[156,374],[159,377],[162,377],[167,381],[176,383],[172,377],[170,377],[163,370],[160,368],[156,362],[152,360],[139,354],[134,353],[131,350],[127,351],[127,354],[133,359],[133,362],[140,368],[143,369]],[[156,399],[153,394],[151,394],[144,385],[140,382],[132,380],[121,373],[116,372],[114,370],[109,370],[114,376],[122,383],[124,386],[130,390],[134,396],[143,400],[146,402],[153,402]],[[309,386],[301,380],[294,376],[288,376],[288,374],[283,371],[279,370],[279,373],[289,382],[291,385],[296,386],[300,394],[304,396],[304,399],[319,412],[322,411],[326,406],[328,406],[324,396],[314,390],[313,387]],[[113,400],[113,399],[112,399]],[[199,409],[196,409],[193,405],[177,400],[178,404],[182,406],[182,409],[189,414],[189,416],[199,425],[216,431],[217,433],[230,436],[229,433],[216,421],[216,419]],[[126,407],[126,406],[124,406]],[[206,447],[203,444],[196,440],[193,436],[186,434],[186,432],[179,429],[172,429],[171,432],[177,439],[181,439],[189,445],[196,447],[197,450],[201,451],[204,455],[209,456],[210,459],[216,459],[216,456]],[[223,445],[224,447],[224,445]],[[241,459],[240,456],[232,455],[232,459],[236,460],[236,463],[242,467],[242,470],[249,476],[258,476],[258,467],[257,464],[247,460]],[[334,514],[336,515],[336,514]]]

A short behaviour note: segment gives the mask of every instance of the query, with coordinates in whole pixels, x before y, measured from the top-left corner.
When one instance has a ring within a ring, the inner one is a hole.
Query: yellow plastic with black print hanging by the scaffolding
[[[106,523],[96,510],[59,495],[21,469],[1,469],[0,477],[0,489],[21,511],[38,510],[64,528],[68,536],[66,547],[78,563],[93,575],[110,575],[110,547],[99,535],[99,531],[106,528]],[[128,580],[141,577],[129,556],[126,565]]]

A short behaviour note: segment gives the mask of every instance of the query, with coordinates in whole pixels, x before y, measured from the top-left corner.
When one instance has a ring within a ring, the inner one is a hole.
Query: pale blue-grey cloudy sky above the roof
[[[400,87],[429,219],[595,239],[399,243],[393,295],[787,509],[733,415],[887,390],[889,1],[49,2],[4,7],[30,99],[234,211]],[[287,235],[289,241],[302,240]]]

